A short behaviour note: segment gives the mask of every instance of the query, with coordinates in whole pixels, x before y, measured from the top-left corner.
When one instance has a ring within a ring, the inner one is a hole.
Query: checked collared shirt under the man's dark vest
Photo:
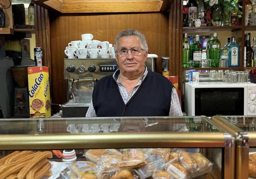
[[[121,96],[124,100],[124,103],[126,104],[129,101],[129,99],[134,95],[134,93],[137,91],[137,89],[139,88],[139,86],[143,82],[143,80],[146,78],[146,76],[148,74],[148,70],[147,70],[147,66],[145,66],[144,74],[139,79],[138,83],[133,87],[133,89],[131,90],[130,93],[128,93],[125,86],[119,81],[118,75],[117,75],[117,74],[119,74],[119,72],[120,72],[119,69],[117,69],[117,71],[114,72],[113,79],[116,81],[116,83],[119,87],[119,91],[121,93]],[[180,107],[179,97],[178,97],[177,91],[175,90],[175,88],[173,88],[172,89],[171,107],[170,107],[170,111],[169,111],[169,116],[182,116],[182,115],[183,114],[182,114],[181,107]],[[93,101],[92,100],[91,100],[90,106],[87,110],[87,113],[86,113],[85,117],[97,117],[95,109],[93,107]]]

